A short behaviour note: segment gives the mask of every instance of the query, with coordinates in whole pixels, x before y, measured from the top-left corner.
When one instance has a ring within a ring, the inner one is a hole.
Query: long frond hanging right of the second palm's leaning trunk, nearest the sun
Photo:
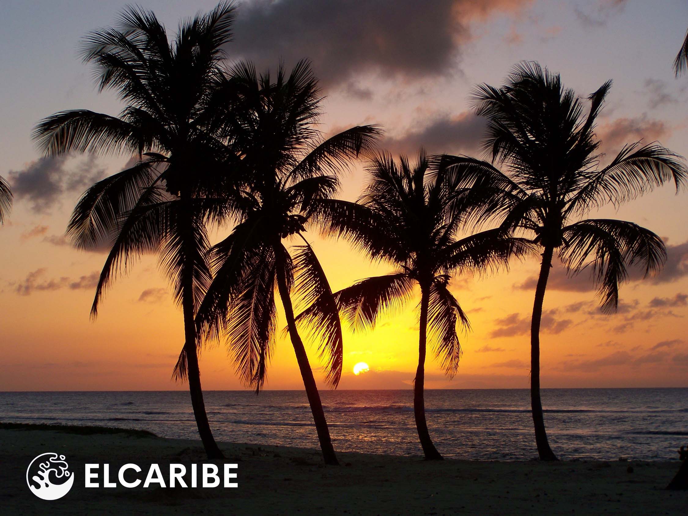
[[[303,241],[305,245],[297,246],[294,255],[294,288],[310,310],[303,312],[298,321],[312,329],[312,339],[319,342],[319,358],[324,362],[325,382],[336,388],[341,379],[344,353],[339,310],[325,271],[308,241]]]

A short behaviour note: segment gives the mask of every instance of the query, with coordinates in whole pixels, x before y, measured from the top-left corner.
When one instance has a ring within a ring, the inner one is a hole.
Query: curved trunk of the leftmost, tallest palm
[[[194,321],[194,303],[193,303],[193,264],[191,256],[187,247],[184,252],[184,269],[182,274],[183,290],[182,290],[182,312],[184,313],[184,351],[186,352],[186,371],[189,378],[189,393],[191,394],[191,407],[193,407],[193,417],[196,420],[198,433],[203,443],[203,447],[208,455],[208,459],[224,459],[222,451],[217,447],[211,425],[208,422],[208,414],[206,413],[206,405],[203,400],[203,391],[201,389],[201,372],[198,367],[198,355],[196,350],[196,327]]]

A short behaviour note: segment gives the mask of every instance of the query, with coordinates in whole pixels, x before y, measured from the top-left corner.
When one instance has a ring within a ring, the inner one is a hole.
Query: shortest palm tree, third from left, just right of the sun
[[[458,239],[468,222],[474,200],[459,167],[438,166],[421,151],[416,163],[402,156],[394,162],[389,153],[376,155],[367,172],[367,188],[358,203],[321,202],[317,217],[333,235],[343,235],[375,261],[396,270],[358,281],[334,294],[336,303],[354,330],[372,328],[378,315],[399,308],[420,288],[418,369],[413,382],[413,414],[418,438],[427,460],[441,460],[425,419],[424,378],[428,341],[450,378],[458,371],[461,347],[457,323],[469,321],[448,284],[456,272],[485,271],[506,265],[512,256],[528,252],[521,239],[500,228]],[[471,185],[473,188],[475,184]],[[471,195],[468,195],[471,194]],[[316,307],[314,307],[316,308]],[[299,318],[312,318],[314,308]]]

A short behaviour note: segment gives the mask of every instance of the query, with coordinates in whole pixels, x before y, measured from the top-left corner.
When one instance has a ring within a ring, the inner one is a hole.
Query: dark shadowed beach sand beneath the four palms
[[[3,515],[688,515],[688,491],[663,488],[679,462],[477,462],[223,443],[237,462],[238,488],[85,488],[84,464],[117,471],[134,462],[207,462],[200,442],[54,430],[0,429]],[[30,493],[25,470],[40,453],[63,453],[76,474],[65,497]],[[678,455],[677,455],[678,457]],[[222,468],[221,468],[222,471]],[[102,480],[101,480],[102,482]]]

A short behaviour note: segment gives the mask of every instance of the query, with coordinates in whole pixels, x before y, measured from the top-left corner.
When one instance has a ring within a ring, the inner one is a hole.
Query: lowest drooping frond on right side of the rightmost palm
[[[660,237],[638,224],[615,219],[587,219],[563,229],[559,256],[570,275],[590,267],[599,286],[601,309],[615,312],[619,284],[628,277],[627,267],[639,265],[645,276],[662,268],[667,252]]]

